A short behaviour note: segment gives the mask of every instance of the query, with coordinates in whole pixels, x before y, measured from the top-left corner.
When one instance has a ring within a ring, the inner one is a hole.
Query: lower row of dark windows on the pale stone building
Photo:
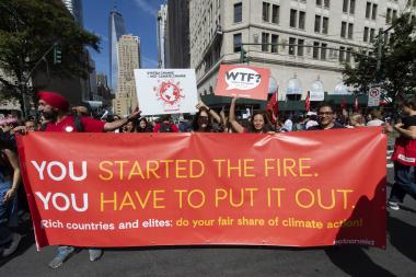
[[[271,39],[270,39],[271,38]],[[279,36],[276,34],[262,33],[262,51],[278,53]],[[303,38],[289,37],[288,54],[290,56],[304,56],[305,42]],[[308,46],[309,47],[309,46]],[[313,42],[312,58],[326,60],[328,58],[328,47],[326,43]],[[234,53],[241,51],[241,33],[234,34]],[[340,62],[350,62],[351,47],[339,47],[338,60]],[[333,49],[331,50],[333,53]],[[334,58],[334,54],[330,58]]]

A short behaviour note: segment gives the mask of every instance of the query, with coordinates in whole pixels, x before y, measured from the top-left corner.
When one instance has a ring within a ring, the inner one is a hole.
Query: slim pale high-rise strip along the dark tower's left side
[[[158,68],[169,68],[167,4],[158,11]]]

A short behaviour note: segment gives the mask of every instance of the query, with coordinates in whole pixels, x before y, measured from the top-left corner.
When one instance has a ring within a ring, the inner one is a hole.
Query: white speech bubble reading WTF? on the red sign
[[[227,90],[253,90],[261,81],[262,76],[251,68],[234,68],[226,72]]]

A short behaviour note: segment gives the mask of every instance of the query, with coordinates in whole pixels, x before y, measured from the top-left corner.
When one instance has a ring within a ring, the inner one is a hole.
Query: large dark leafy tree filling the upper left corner
[[[78,25],[61,0],[0,0],[0,84],[2,96],[30,93],[33,73],[86,78],[85,47],[100,38]],[[61,62],[54,64],[54,46]]]

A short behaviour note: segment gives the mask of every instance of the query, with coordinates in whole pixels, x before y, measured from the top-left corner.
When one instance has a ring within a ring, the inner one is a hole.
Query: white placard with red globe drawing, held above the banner
[[[141,115],[196,113],[194,69],[135,69]]]

